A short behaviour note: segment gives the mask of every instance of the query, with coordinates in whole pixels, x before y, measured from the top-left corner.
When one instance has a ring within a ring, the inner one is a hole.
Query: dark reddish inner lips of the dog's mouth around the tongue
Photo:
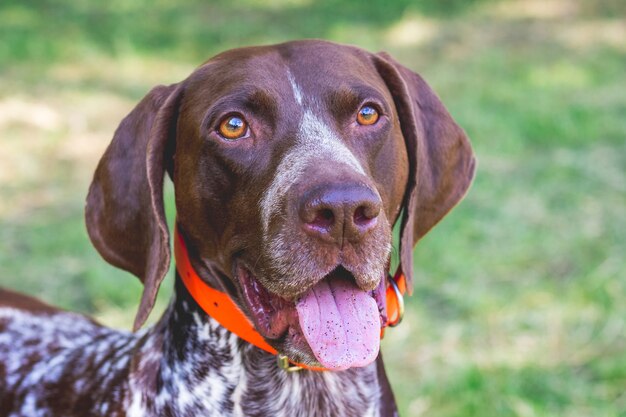
[[[328,276],[336,274],[339,268],[342,267],[335,268],[333,272],[320,279],[326,279]],[[241,284],[243,299],[252,316],[252,321],[261,335],[269,341],[276,342],[290,337],[293,339],[291,340],[292,345],[299,346],[312,355],[300,329],[296,310],[297,300],[290,301],[268,291],[254,273],[242,263],[237,264],[236,271]],[[346,272],[349,274],[348,271],[343,270],[343,273]],[[378,306],[381,327],[387,320],[385,288],[385,279],[383,278],[374,290],[368,291]]]

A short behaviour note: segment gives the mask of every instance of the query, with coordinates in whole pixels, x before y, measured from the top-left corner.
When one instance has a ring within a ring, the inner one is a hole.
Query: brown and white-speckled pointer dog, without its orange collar
[[[165,172],[201,280],[276,352],[325,371],[278,368],[180,274],[138,330],[170,266]],[[392,226],[411,291],[414,243],[473,174],[461,128],[384,53],[297,41],[210,59],[122,121],[87,197],[93,244],[144,284],[135,332],[0,291],[0,415],[397,415],[378,352]]]

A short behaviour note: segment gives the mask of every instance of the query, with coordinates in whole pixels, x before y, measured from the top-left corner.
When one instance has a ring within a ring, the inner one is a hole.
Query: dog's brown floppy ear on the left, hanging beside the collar
[[[85,218],[94,246],[144,284],[134,330],[150,314],[170,266],[163,179],[172,163],[181,92],[178,84],[156,87],[122,120],[87,196]]]

